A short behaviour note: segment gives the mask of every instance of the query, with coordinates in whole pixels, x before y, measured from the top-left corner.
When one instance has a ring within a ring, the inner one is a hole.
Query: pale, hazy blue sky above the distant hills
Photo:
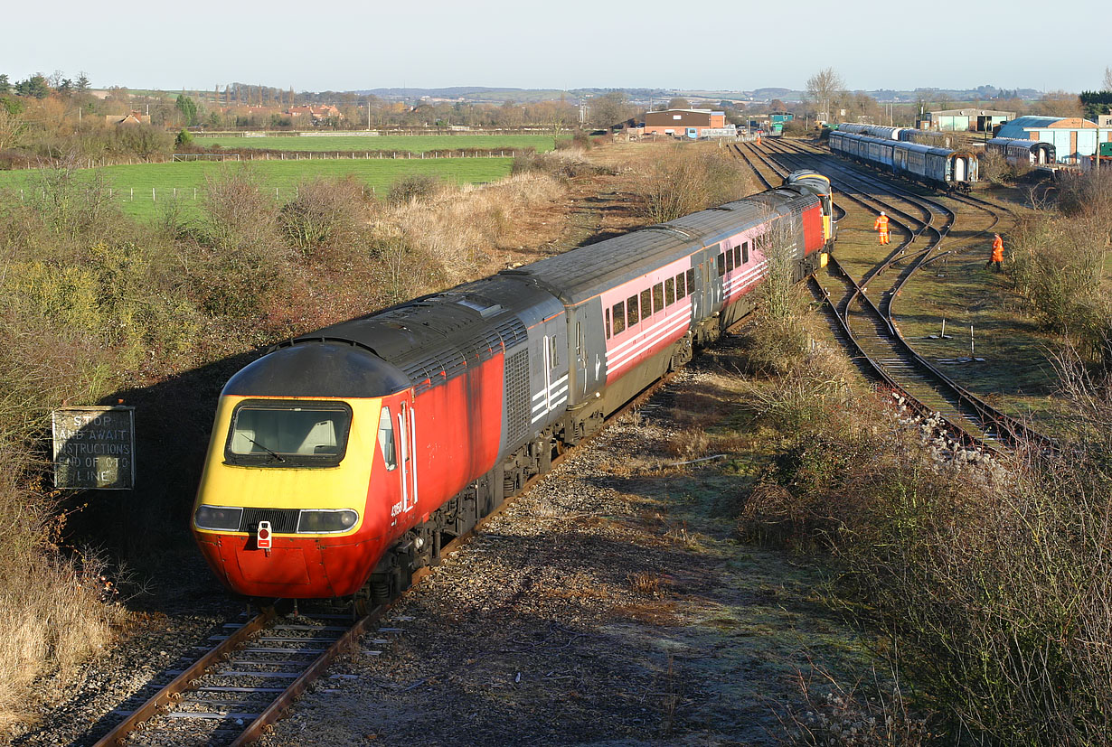
[[[802,90],[830,67],[851,90],[989,84],[1078,92],[1100,88],[1112,66],[1108,44],[1100,36],[1085,41],[1083,24],[1063,26],[1054,44],[1027,34],[1043,28],[1030,19],[1056,12],[1031,0],[1006,9],[969,0],[6,6],[0,73],[18,81],[85,71],[93,88]],[[1100,8],[1081,0],[1061,12],[1095,18]],[[1082,37],[1070,36],[1074,28]]]

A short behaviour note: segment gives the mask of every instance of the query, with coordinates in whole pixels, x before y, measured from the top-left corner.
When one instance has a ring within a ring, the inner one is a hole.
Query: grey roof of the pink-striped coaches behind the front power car
[[[804,197],[800,189],[777,188],[503,273],[532,277],[566,303],[576,305],[762,223],[770,213],[788,215],[812,202],[818,198]]]

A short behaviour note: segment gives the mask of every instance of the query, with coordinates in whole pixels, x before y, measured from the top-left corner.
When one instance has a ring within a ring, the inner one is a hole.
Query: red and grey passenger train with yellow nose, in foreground
[[[256,598],[375,604],[752,310],[825,265],[830,180],[777,188],[284,341],[217,406],[191,530]]]

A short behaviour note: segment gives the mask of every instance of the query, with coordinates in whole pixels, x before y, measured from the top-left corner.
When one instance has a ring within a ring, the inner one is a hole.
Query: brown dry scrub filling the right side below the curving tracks
[[[939,744],[1112,739],[1112,378],[1099,292],[1109,213],[1100,185],[1063,189],[1088,195],[1085,208],[1012,235],[1017,287],[1063,335],[1072,434],[1058,452],[985,461],[940,448],[885,398],[852,394],[847,369],[815,351],[758,366],[776,376],[752,385],[762,421],[793,442],[745,500],[739,532],[828,554],[832,602],[891,634],[893,666],[921,690],[913,711],[935,714]],[[765,337],[753,338],[757,361],[785,345]],[[814,709],[788,719],[803,744],[924,741],[903,698],[876,713],[804,689]],[[900,728],[871,730],[880,725]]]

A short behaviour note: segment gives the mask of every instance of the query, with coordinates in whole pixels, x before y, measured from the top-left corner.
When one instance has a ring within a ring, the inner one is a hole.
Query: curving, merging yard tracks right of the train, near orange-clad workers
[[[767,149],[773,152],[766,155],[764,149],[751,143],[744,148],[734,146],[735,152],[766,185],[772,183],[766,172],[782,177],[795,168],[814,168],[830,176],[847,200],[868,211],[883,209],[893,216],[905,237],[861,281],[854,280],[836,257],[832,257],[823,275],[813,279],[812,293],[831,311],[832,333],[850,350],[858,368],[901,392],[905,404],[921,414],[940,414],[950,425],[952,435],[966,445],[999,450],[1000,446],[1014,447],[1020,441],[1044,440],[1025,424],[996,410],[946,377],[904,339],[893,318],[892,302],[909,279],[925,265],[950,253],[942,250],[942,246],[956,221],[954,211],[930,198],[860,175],[802,146],[770,143]],[[876,191],[888,192],[891,197],[878,198]],[[992,222],[982,232],[992,230],[1000,221],[994,206],[987,201],[979,198],[962,201],[990,213]],[[845,215],[846,208],[842,210]],[[937,216],[942,216],[940,226],[935,226]],[[919,239],[923,241],[915,246]],[[866,292],[870,283],[875,291],[881,276],[894,269],[898,269],[895,280],[880,295],[881,300],[874,301]],[[833,292],[827,291],[828,286],[834,287]]]

